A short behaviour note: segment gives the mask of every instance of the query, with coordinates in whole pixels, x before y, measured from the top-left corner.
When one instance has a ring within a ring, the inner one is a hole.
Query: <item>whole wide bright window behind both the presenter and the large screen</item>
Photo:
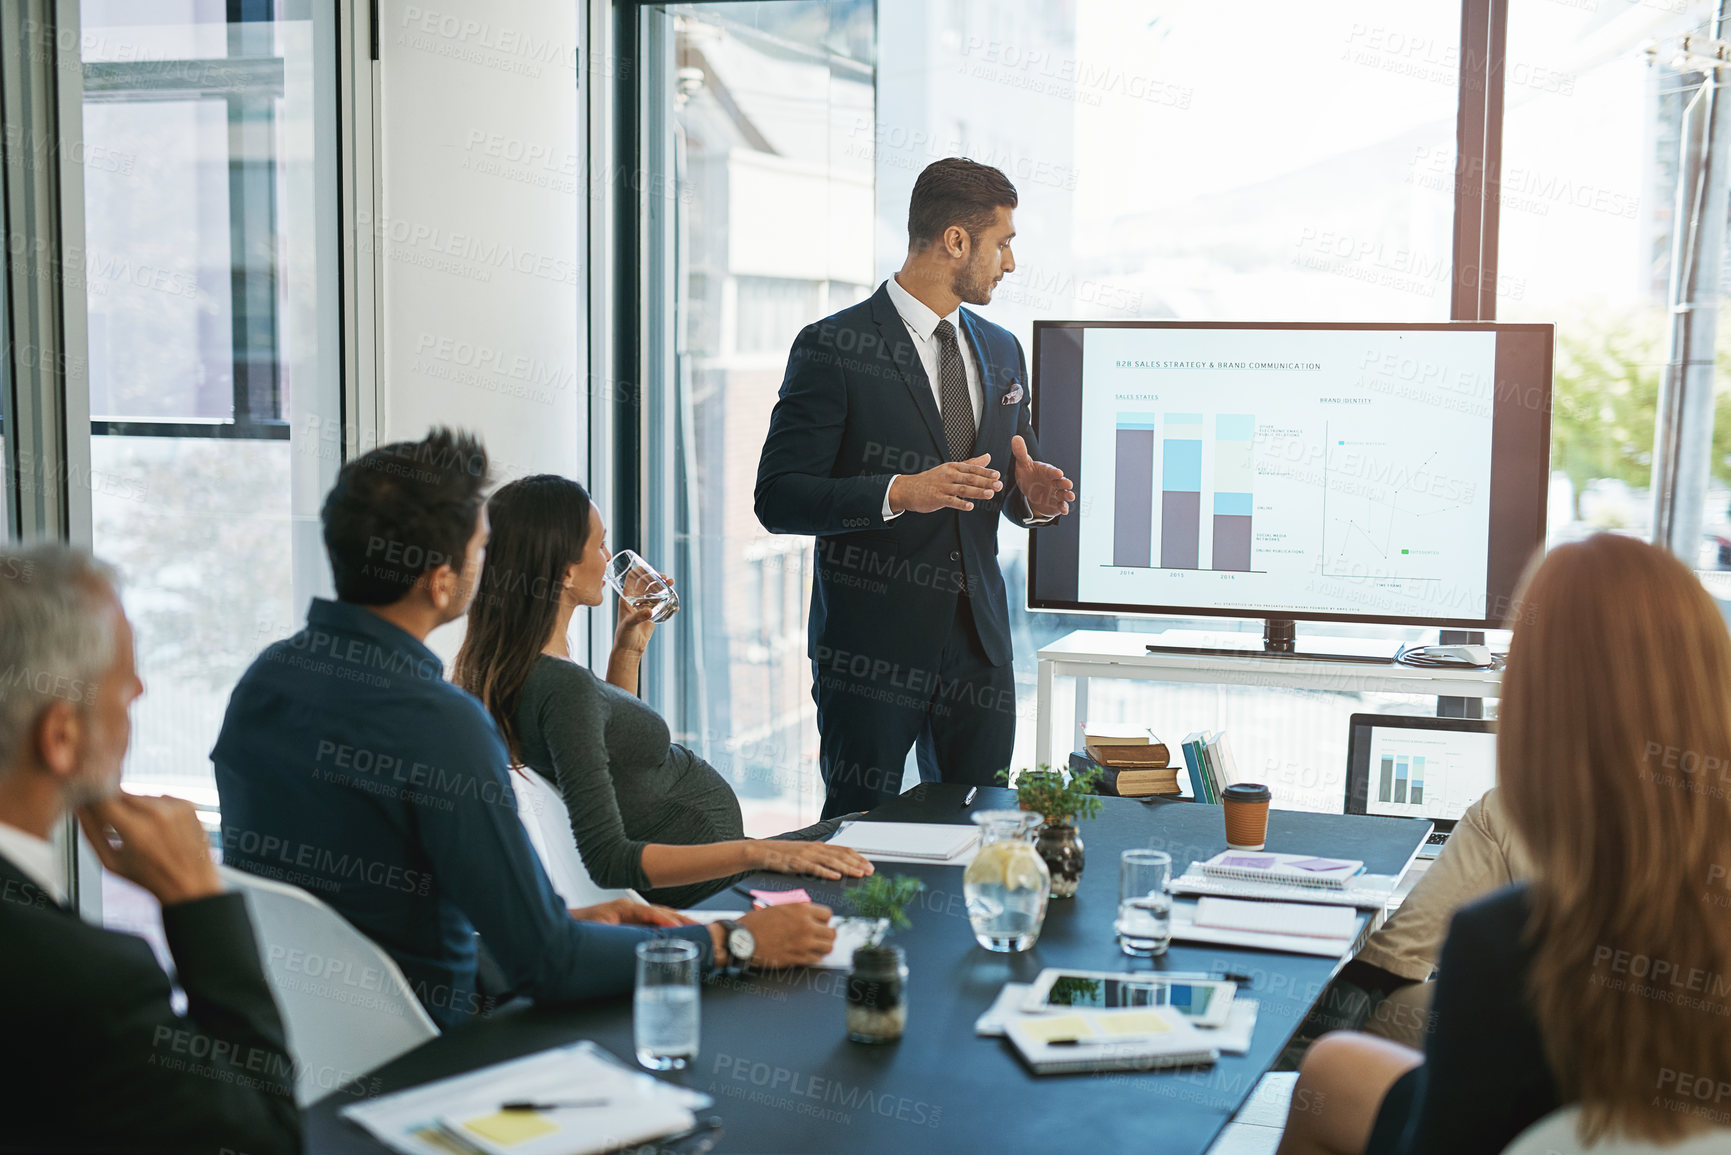
[[[661,705],[730,772],[755,833],[808,821],[820,791],[810,542],[756,525],[756,454],[788,345],[900,265],[928,163],[971,156],[1018,185],[1018,270],[981,312],[1025,346],[1035,317],[1449,315],[1454,5],[1271,5],[1246,23],[1208,5],[788,0],[666,19],[651,102],[677,128],[679,194],[651,234],[649,267],[672,275],[649,300],[680,320],[646,511],[699,585]],[[1115,623],[1025,613],[1026,533],[999,533],[1025,765],[1035,649]],[[1103,686],[1096,701],[1168,736],[1226,726],[1286,803],[1319,809],[1338,809],[1345,715],[1362,707],[1224,687]]]

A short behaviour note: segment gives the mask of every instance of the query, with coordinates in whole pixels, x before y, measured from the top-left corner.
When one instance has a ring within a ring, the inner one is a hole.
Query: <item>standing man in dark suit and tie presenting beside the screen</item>
[[[1039,461],[1028,364],[985,305],[1016,268],[1016,189],[943,159],[914,182],[907,260],[807,326],[758,462],[770,533],[817,537],[807,649],[824,817],[923,781],[987,784],[1016,739],[997,518],[1044,525],[1075,488]]]

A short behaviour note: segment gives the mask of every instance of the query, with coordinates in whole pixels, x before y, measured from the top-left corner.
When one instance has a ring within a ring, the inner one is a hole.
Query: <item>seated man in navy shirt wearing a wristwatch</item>
[[[499,729],[424,644],[474,594],[486,473],[476,438],[434,429],[338,474],[320,514],[338,601],[313,599],[306,629],[253,661],[211,752],[225,862],[336,907],[440,1027],[490,994],[630,990],[634,947],[654,933],[698,942],[706,968],[819,961],[834,942],[820,906],[730,928],[632,902],[564,909],[518,821]],[[476,990],[474,932],[505,990]]]

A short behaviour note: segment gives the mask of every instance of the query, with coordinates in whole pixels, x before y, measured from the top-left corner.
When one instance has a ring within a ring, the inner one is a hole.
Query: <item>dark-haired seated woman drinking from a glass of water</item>
[[[606,681],[571,661],[578,606],[599,606],[608,565],[601,511],[582,485],[537,474],[486,502],[492,537],[454,679],[479,698],[511,757],[559,788],[583,866],[601,887],[691,906],[750,871],[859,878],[871,862],[827,838],[841,819],[744,838],[739,798],[708,762],[670,741],[637,698],[649,610],[620,604]]]

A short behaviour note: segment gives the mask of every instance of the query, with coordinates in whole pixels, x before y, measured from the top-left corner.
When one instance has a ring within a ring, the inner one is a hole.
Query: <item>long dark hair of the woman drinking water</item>
[[[518,750],[518,703],[559,618],[566,568],[589,545],[589,490],[552,473],[512,481],[486,502],[492,535],[452,681],[481,700]]]

